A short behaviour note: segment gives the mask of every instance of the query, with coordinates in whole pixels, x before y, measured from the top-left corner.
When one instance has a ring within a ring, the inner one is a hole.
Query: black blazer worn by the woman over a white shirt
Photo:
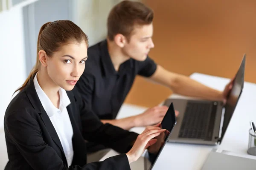
[[[73,127],[73,162],[67,167],[58,135],[35,91],[33,79],[10,102],[4,117],[9,161],[6,170],[130,170],[125,155],[138,134],[102,124],[88,110],[76,88],[67,91],[67,106]],[[100,106],[99,106],[100,107]],[[105,161],[86,164],[85,140],[104,144],[118,151]]]

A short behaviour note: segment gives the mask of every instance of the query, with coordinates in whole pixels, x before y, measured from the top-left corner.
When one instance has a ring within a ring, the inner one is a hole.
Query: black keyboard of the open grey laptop
[[[212,140],[216,110],[217,102],[189,101],[181,123],[179,137]]]

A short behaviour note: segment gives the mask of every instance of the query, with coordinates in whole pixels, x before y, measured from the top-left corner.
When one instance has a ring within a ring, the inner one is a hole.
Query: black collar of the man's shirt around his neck
[[[133,67],[132,59],[129,59],[122,63],[119,68],[119,72],[117,72],[113,66],[110,55],[108,53],[108,43],[107,40],[104,40],[100,43],[100,51],[101,51],[101,61],[104,68],[105,76],[122,74],[125,73],[126,70],[131,69]]]

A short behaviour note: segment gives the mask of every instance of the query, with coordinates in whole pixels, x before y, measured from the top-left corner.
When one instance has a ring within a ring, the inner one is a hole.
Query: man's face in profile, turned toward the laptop
[[[122,48],[122,52],[137,61],[144,61],[151,48],[154,48],[152,41],[153,24],[134,26],[130,41]]]

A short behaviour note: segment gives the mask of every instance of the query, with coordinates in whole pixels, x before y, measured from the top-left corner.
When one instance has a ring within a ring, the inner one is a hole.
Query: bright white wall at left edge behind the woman
[[[20,8],[0,13],[0,170],[8,160],[3,117],[13,92],[26,79],[22,21]]]

